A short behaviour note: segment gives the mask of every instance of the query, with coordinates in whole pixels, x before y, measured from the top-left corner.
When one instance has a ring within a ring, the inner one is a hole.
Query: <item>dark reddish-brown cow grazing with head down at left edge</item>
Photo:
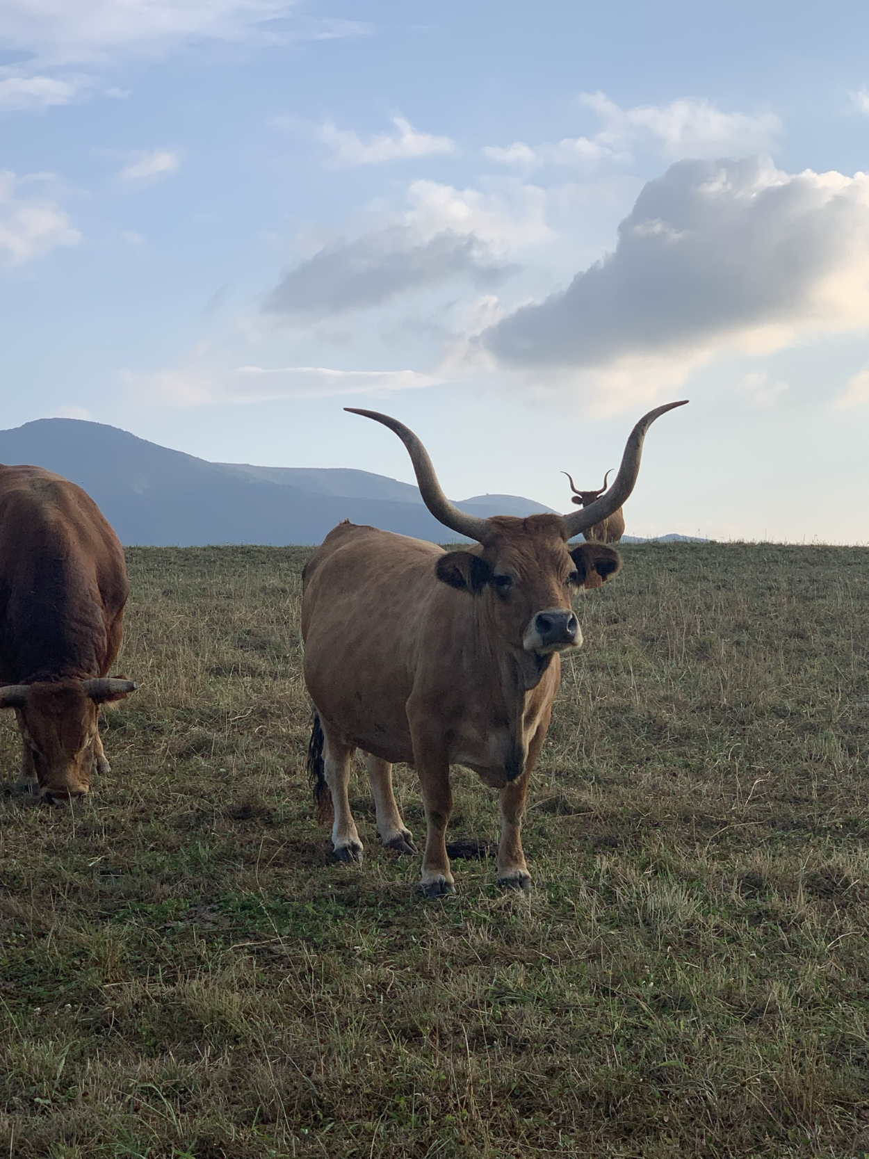
[[[42,467],[0,466],[0,708],[19,720],[22,780],[49,803],[109,771],[98,706],[136,688],[107,677],[129,590],[89,495]]]

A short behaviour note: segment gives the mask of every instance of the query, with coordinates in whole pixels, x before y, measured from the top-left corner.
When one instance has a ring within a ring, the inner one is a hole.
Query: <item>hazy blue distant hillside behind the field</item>
[[[37,464],[72,479],[125,544],[317,544],[342,519],[445,538],[410,483],[344,468],[209,462],[78,418],[0,431],[0,462]],[[457,502],[481,516],[549,510],[511,495]]]

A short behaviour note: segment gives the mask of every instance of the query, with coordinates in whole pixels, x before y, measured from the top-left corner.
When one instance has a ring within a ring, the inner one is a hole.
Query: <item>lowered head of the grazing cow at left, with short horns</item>
[[[83,796],[96,757],[100,705],[136,690],[132,680],[39,680],[0,687],[0,708],[14,708],[39,796],[54,804]]]

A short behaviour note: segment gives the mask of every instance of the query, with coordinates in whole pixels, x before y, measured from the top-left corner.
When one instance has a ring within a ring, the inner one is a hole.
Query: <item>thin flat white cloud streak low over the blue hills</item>
[[[125,371],[123,380],[140,402],[190,409],[220,403],[384,394],[434,386],[439,378],[414,370],[334,370],[328,366],[238,366],[207,370],[202,358],[153,373]]]

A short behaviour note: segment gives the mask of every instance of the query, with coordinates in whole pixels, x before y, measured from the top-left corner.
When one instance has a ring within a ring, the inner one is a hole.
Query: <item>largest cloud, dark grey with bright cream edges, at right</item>
[[[869,175],[681,161],[644,187],[613,254],[482,342],[618,409],[724,352],[863,330],[867,269]]]

